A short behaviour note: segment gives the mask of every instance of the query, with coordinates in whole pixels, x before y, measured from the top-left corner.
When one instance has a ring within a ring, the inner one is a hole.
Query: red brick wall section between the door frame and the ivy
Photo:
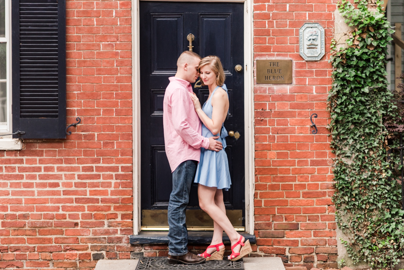
[[[255,85],[257,255],[275,254],[289,266],[337,267],[325,127],[334,10],[332,0],[254,0],[255,60],[293,60],[292,85]],[[321,61],[299,56],[298,31],[306,22],[325,29]],[[316,135],[309,127],[312,113],[318,114]]]

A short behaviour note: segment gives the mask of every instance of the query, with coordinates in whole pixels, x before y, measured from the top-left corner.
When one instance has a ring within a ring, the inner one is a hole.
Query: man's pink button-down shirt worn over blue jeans
[[[186,80],[170,77],[163,103],[163,126],[166,154],[173,172],[185,160],[199,162],[200,148],[209,148],[209,139],[201,136],[202,124],[188,93]]]

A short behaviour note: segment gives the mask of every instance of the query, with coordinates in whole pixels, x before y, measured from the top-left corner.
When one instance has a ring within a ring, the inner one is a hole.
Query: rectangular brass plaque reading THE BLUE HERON
[[[257,60],[257,83],[292,83],[292,60]]]

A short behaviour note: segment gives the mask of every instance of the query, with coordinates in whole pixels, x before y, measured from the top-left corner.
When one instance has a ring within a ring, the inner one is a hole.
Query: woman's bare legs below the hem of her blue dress
[[[217,189],[214,187],[211,188],[211,187],[207,187],[207,186],[199,184],[198,185],[199,206],[202,210],[207,212],[208,215],[213,219],[213,221],[216,222],[217,226],[220,227],[216,230],[216,231],[218,231],[216,237],[219,237],[220,234],[223,234],[223,230],[224,230],[230,239],[231,245],[234,245],[239,240],[240,234],[237,233],[236,230],[234,230],[233,225],[231,224],[227,215],[223,214],[226,211],[226,209],[221,208],[221,207],[224,208],[223,193],[221,196],[221,201],[223,202],[223,206],[219,207],[218,205],[216,205],[216,201],[215,201],[216,192],[217,192]],[[218,196],[220,196],[220,195],[218,195]],[[217,199],[219,199],[219,197]],[[214,224],[214,226],[215,226],[215,224]],[[215,237],[215,232],[214,232],[214,237]],[[215,238],[215,240],[216,240],[216,238]],[[213,243],[213,239],[212,239],[212,243]],[[234,252],[239,252],[240,248],[241,248],[241,246],[237,245],[234,248]]]

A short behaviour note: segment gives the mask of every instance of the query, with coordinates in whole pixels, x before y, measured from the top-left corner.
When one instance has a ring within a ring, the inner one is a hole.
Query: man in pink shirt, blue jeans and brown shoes
[[[198,264],[204,257],[188,252],[188,232],[185,224],[185,209],[189,202],[191,184],[195,177],[200,148],[219,151],[222,144],[201,134],[201,122],[189,94],[191,83],[198,78],[200,56],[185,51],[177,61],[177,73],[170,77],[163,103],[163,125],[166,154],[173,173],[173,191],[168,204],[169,252],[171,264]]]

